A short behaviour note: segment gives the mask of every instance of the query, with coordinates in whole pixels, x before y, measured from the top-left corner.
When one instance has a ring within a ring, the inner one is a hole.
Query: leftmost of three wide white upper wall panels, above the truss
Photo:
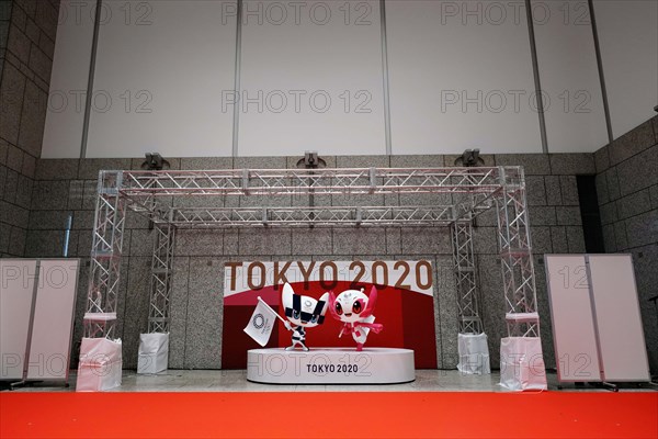
[[[88,157],[230,156],[235,1],[103,4]]]

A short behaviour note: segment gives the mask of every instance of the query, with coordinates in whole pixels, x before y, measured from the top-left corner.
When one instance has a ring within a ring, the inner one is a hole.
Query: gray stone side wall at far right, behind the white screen
[[[605,252],[632,254],[649,363],[658,371],[658,116],[599,149],[597,192]]]

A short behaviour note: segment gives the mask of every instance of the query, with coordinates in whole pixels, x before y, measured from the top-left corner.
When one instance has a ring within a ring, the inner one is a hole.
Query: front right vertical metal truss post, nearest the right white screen
[[[523,169],[500,167],[500,183],[496,205],[508,336],[540,337]]]

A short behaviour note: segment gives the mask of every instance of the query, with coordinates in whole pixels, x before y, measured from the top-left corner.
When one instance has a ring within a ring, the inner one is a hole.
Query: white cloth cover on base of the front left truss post
[[[98,392],[121,385],[121,339],[82,338],[78,365],[78,392]]]

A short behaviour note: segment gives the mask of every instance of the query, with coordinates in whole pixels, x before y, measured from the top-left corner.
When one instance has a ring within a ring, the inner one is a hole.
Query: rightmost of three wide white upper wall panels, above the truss
[[[394,154],[542,151],[522,4],[386,2]]]

